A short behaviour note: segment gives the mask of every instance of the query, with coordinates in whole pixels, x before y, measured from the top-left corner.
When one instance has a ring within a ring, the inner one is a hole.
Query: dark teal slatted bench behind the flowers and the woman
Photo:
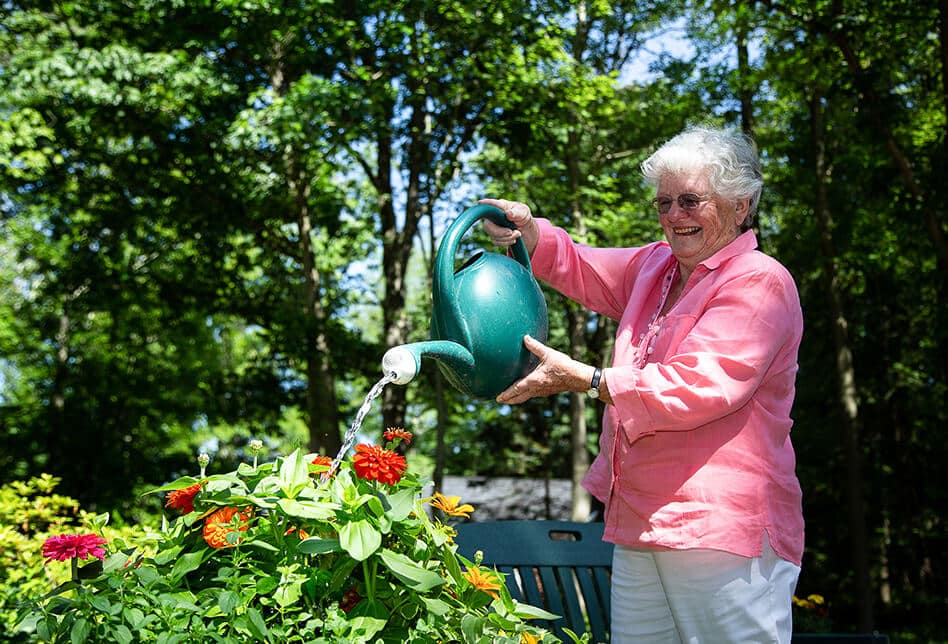
[[[609,641],[609,586],[612,544],[602,540],[602,523],[571,521],[487,521],[461,523],[458,553],[506,573],[507,588],[519,601],[556,615],[543,624],[563,641],[563,631],[590,633],[593,642]],[[878,633],[795,633],[792,644],[888,644]]]

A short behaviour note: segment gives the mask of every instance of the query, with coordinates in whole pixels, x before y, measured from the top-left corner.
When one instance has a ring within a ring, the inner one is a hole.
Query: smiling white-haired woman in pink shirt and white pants
[[[540,358],[498,402],[564,391],[605,405],[583,482],[616,544],[612,642],[789,642],[803,554],[790,443],[802,314],[793,278],[750,230],[763,181],[739,133],[690,128],[642,164],[665,242],[597,249],[523,203],[485,199],[516,226],[537,277],[618,322],[612,364],[527,337]]]

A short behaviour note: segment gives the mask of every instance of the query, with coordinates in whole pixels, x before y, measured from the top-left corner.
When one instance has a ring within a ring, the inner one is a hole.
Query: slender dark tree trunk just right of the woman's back
[[[856,392],[856,374],[852,349],[849,345],[848,322],[843,310],[836,251],[833,245],[833,220],[828,204],[826,185],[828,168],[823,139],[822,97],[817,94],[810,101],[813,162],[815,169],[816,200],[814,214],[820,230],[820,251],[823,256],[823,275],[826,296],[833,324],[833,343],[836,350],[836,380],[839,387],[839,406],[843,420],[843,442],[846,458],[846,504],[852,548],[853,583],[857,598],[860,632],[873,628],[872,589],[869,575],[869,538],[864,512],[862,455],[860,448],[859,398]]]

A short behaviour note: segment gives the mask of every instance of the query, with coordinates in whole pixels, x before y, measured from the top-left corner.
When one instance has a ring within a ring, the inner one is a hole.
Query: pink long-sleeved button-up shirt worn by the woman
[[[665,242],[591,248],[537,220],[534,273],[619,323],[600,453],[583,485],[604,539],[761,554],[800,565],[803,511],[790,443],[803,316],[796,285],[745,232],[699,264],[659,317],[677,261]]]

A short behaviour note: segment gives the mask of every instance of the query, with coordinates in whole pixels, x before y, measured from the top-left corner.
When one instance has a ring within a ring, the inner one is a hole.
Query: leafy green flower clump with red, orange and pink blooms
[[[150,541],[50,538],[49,565],[70,560],[72,580],[33,602],[21,629],[71,642],[559,641],[529,621],[551,615],[456,554],[454,529],[426,505],[473,508],[421,498],[394,451],[411,435],[385,436],[334,471],[300,450],[209,476],[199,461],[201,476],[154,490],[176,516]]]

